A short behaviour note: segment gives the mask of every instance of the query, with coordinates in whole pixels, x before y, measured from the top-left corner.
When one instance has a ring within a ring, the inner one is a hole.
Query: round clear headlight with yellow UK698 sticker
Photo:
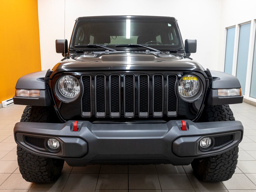
[[[179,94],[183,97],[193,97],[200,89],[200,82],[194,75],[184,75],[179,80]]]

